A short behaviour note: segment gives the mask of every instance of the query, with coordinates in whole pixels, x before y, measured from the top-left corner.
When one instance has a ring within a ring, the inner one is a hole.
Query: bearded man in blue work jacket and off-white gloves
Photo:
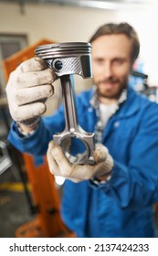
[[[10,76],[6,93],[14,122],[8,139],[22,152],[47,153],[52,174],[66,177],[61,216],[78,237],[154,237],[158,105],[128,86],[139,39],[126,23],[107,24],[90,43],[94,87],[80,93],[77,108],[80,126],[95,133],[95,164],[74,165],[50,142],[64,130],[64,113],[61,106],[39,118],[46,110],[41,100],[54,93],[57,79],[42,59],[27,60]],[[78,142],[73,153],[77,148]]]

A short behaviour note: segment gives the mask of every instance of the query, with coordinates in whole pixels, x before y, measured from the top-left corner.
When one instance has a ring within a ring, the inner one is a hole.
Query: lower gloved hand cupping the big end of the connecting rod
[[[88,180],[92,177],[104,176],[104,179],[108,177],[113,166],[113,159],[107,147],[96,144],[93,157],[94,165],[72,164],[60,146],[55,145],[53,141],[48,144],[47,162],[50,172],[54,176],[63,176],[73,182]]]

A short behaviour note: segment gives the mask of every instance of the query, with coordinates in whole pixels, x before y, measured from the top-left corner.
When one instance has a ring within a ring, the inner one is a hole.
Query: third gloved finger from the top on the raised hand
[[[47,99],[54,93],[51,84],[40,85],[32,88],[19,89],[16,91],[15,100],[18,106],[26,103]]]

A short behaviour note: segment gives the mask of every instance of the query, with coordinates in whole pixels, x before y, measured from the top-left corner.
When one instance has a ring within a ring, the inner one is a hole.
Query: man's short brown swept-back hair
[[[99,27],[96,32],[90,37],[90,43],[95,41],[98,37],[106,35],[123,34],[132,40],[132,63],[138,58],[140,52],[140,40],[134,28],[126,22],[119,24],[108,23]]]

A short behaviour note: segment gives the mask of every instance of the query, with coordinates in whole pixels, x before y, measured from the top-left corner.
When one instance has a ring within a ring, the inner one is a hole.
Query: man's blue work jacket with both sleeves
[[[128,89],[102,133],[114,159],[110,180],[95,185],[91,180],[66,181],[61,216],[78,237],[153,237],[153,204],[158,202],[158,104]],[[93,133],[96,111],[91,91],[77,97],[79,124]],[[52,135],[65,127],[63,106],[41,119],[37,131],[21,135],[12,124],[8,139],[21,152],[46,155]],[[78,147],[75,145],[74,152]]]

